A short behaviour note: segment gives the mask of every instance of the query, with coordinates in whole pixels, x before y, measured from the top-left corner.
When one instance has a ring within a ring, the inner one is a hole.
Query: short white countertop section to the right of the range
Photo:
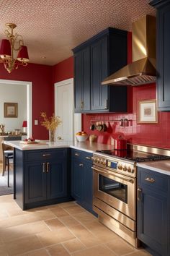
[[[170,160],[137,163],[137,166],[157,171],[160,174],[170,175]]]

